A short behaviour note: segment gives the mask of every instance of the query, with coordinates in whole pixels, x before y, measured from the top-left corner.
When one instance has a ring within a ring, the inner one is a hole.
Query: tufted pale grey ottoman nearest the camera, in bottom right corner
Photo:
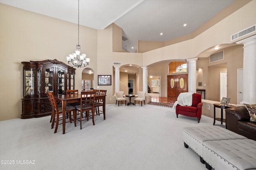
[[[252,139],[206,141],[203,156],[215,170],[256,169],[256,141]]]

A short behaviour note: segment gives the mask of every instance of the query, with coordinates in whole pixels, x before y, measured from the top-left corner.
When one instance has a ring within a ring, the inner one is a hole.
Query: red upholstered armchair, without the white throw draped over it
[[[176,106],[176,115],[185,115],[190,117],[197,117],[198,123],[202,116],[202,95],[198,93],[192,94],[192,106]]]

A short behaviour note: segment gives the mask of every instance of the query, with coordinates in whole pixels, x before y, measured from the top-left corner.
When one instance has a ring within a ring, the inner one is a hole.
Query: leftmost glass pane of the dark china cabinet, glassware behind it
[[[30,70],[24,70],[24,96],[34,95],[34,68]]]

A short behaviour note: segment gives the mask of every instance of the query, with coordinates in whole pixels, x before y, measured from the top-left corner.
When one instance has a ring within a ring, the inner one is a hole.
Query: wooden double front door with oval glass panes
[[[177,98],[180,93],[188,92],[188,74],[167,76],[167,96]]]

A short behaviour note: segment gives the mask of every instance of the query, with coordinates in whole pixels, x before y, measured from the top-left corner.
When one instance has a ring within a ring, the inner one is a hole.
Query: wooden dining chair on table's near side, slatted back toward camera
[[[95,91],[87,91],[87,92],[81,92],[81,99],[80,99],[80,105],[76,106],[76,110],[80,112],[80,119],[77,119],[80,121],[80,129],[82,129],[82,121],[92,119],[93,125],[94,123],[94,102],[95,102]],[[92,113],[90,115],[89,113]],[[83,112],[85,112],[85,116],[83,116]],[[86,118],[86,119],[84,119]]]

